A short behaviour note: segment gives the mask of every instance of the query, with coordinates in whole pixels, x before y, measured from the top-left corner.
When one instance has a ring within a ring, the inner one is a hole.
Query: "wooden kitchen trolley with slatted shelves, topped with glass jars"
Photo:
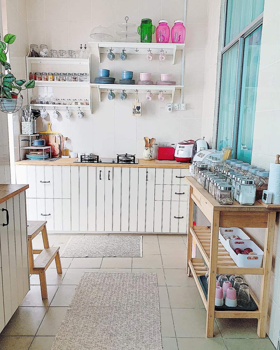
[[[257,201],[254,205],[219,204],[198,182],[191,176],[185,177],[190,185],[189,230],[187,250],[187,274],[194,277],[198,292],[201,295],[206,316],[206,336],[213,337],[214,318],[257,318],[258,336],[266,336],[267,309],[269,299],[269,284],[272,267],[272,253],[276,212],[280,205],[264,204]],[[209,220],[211,226],[194,226],[194,203]],[[260,268],[241,268],[231,259],[229,253],[220,243],[219,227],[266,228],[264,241],[264,257]],[[209,283],[207,300],[198,280],[206,269],[202,258],[192,258],[192,244],[195,243],[204,261],[209,267]],[[261,276],[260,298],[250,290],[258,309],[255,311],[215,310],[216,274],[255,274]]]

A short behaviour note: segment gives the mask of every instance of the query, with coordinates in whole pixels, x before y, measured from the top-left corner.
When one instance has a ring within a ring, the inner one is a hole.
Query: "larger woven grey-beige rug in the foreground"
[[[51,350],[162,350],[156,273],[84,272]]]

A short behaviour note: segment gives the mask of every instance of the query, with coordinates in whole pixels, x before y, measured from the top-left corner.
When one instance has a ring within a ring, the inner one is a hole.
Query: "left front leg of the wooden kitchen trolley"
[[[215,312],[215,291],[218,259],[218,236],[219,236],[220,212],[214,211],[211,226],[210,239],[210,259],[209,259],[209,282],[207,295],[207,315],[206,315],[206,336],[213,337],[214,332],[214,312]]]

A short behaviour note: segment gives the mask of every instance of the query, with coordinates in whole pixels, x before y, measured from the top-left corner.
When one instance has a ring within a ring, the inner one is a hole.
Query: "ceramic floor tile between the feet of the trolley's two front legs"
[[[254,318],[217,318],[217,322],[224,338],[259,338]]]

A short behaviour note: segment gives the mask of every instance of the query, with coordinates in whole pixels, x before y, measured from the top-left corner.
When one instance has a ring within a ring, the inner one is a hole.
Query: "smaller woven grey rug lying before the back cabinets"
[[[72,236],[61,257],[142,257],[142,236]]]

